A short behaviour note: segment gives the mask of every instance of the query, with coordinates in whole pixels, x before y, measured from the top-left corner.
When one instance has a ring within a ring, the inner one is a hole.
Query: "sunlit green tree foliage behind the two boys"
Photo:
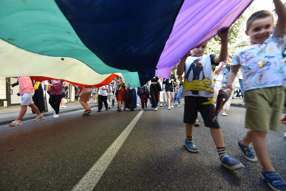
[[[242,39],[243,22],[246,20],[244,13],[229,27],[228,34],[228,50],[230,55],[233,55],[237,49],[237,43]],[[216,54],[219,55],[221,51],[221,39],[218,35],[215,35],[208,41],[204,54]],[[215,70],[215,66],[212,65],[212,70]]]

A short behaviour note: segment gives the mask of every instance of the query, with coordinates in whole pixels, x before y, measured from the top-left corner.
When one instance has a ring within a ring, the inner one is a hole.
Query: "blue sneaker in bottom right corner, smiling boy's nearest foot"
[[[286,190],[286,182],[276,172],[265,173],[262,169],[261,177],[272,190]]]

